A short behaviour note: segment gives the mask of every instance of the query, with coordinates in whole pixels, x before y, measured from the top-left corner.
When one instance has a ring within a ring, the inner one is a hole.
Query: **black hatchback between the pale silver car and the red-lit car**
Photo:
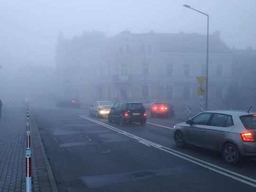
[[[121,126],[127,122],[146,125],[146,110],[142,103],[121,101],[110,109],[108,120],[109,122],[118,121]]]

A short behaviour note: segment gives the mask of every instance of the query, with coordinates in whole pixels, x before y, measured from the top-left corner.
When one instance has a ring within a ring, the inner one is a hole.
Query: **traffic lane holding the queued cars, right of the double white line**
[[[186,145],[185,148],[179,148],[176,146],[174,139],[173,139],[173,130],[163,128],[160,126],[155,126],[151,124],[146,124],[145,126],[141,126],[137,123],[127,124],[125,126],[120,126],[118,122],[109,123],[106,118],[93,118],[95,120],[100,120],[101,122],[117,127],[120,130],[126,131],[130,134],[137,135],[141,138],[149,140],[151,142],[155,142],[161,144],[165,147],[171,148],[173,150],[182,152],[183,154],[190,155],[197,159],[201,159],[206,163],[211,163],[213,165],[223,167],[227,170],[236,172],[241,175],[248,176],[250,178],[256,179],[256,160],[244,158],[238,164],[238,166],[228,165],[222,159],[222,155],[219,152],[204,149],[197,146]],[[158,123],[161,125],[161,122]]]

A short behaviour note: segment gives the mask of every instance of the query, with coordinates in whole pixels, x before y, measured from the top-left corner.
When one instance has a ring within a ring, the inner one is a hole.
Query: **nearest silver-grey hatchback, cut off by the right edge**
[[[216,150],[232,165],[242,156],[256,157],[256,113],[232,110],[204,111],[174,126],[174,141]]]

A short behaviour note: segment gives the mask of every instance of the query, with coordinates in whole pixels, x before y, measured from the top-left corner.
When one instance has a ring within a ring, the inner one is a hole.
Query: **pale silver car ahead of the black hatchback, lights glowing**
[[[90,116],[95,117],[107,117],[111,107],[113,107],[113,103],[107,100],[95,101],[89,109]]]

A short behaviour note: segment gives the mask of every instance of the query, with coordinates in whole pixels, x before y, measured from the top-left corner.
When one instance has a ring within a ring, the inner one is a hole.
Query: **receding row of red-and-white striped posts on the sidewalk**
[[[31,192],[31,150],[30,150],[30,126],[27,106],[27,150],[26,150],[26,192]]]

